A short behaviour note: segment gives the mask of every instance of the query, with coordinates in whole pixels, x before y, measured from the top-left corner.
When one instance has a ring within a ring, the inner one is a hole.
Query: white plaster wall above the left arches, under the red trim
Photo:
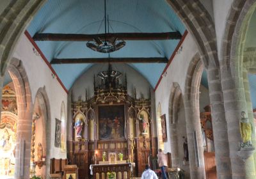
[[[51,127],[51,152],[50,158],[66,159],[66,152],[61,152],[60,148],[54,146],[55,139],[55,118],[60,119],[61,102],[67,106],[67,93],[61,87],[60,83],[52,78],[52,72],[46,65],[41,56],[36,56],[33,52],[33,45],[23,34],[13,54],[14,58],[20,59],[28,75],[29,86],[33,104],[35,104],[36,92],[40,87],[45,87],[51,111],[51,123],[47,123]],[[65,110],[67,111],[67,110]],[[66,115],[67,116],[67,115]],[[47,139],[49,140],[49,139]]]

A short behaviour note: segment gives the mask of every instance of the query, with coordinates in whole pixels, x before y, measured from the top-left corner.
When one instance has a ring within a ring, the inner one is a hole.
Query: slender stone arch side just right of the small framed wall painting
[[[169,99],[169,121],[170,121],[170,141],[172,151],[172,167],[180,167],[178,138],[177,138],[177,116],[179,103],[182,98],[181,89],[177,82],[173,82]]]

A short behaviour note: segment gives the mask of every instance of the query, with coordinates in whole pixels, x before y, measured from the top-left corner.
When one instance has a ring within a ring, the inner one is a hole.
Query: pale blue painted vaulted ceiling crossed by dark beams
[[[110,33],[163,33],[186,30],[165,0],[106,0]],[[35,15],[28,32],[35,33],[104,33],[103,0],[49,0]],[[113,58],[170,58],[179,40],[126,41]],[[36,42],[49,62],[52,58],[108,58],[92,51],[86,42]],[[93,64],[52,65],[67,89]],[[129,64],[155,87],[166,64]],[[118,69],[116,69],[118,70]]]

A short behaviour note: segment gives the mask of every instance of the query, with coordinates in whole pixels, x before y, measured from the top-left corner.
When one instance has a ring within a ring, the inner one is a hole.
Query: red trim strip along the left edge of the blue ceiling
[[[28,40],[32,43],[32,45],[35,47],[36,51],[38,51],[38,53],[40,54],[40,56],[42,57],[42,59],[44,59],[46,65],[50,68],[50,70],[52,71],[52,74],[56,75],[58,82],[60,82],[60,85],[62,86],[62,88],[66,91],[66,93],[68,93],[68,89],[65,88],[64,84],[62,83],[62,81],[60,80],[60,78],[58,77],[58,75],[56,74],[55,70],[52,68],[51,63],[49,63],[49,61],[45,58],[43,52],[40,50],[40,48],[36,45],[35,41],[33,40],[33,38],[29,35],[28,31],[25,31],[24,33]]]

